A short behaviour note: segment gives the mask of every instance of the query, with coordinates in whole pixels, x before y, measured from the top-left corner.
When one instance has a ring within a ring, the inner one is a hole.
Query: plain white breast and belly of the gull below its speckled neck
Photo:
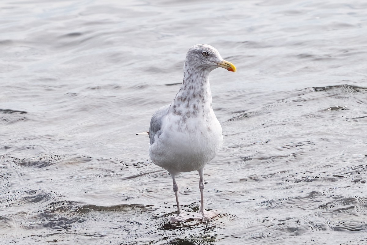
[[[162,133],[149,147],[149,155],[156,165],[178,174],[204,167],[218,154],[222,143],[222,127],[213,111],[195,118],[168,114]]]

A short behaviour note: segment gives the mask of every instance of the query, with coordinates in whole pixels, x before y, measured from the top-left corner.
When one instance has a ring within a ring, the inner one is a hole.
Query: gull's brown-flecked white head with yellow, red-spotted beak
[[[185,70],[205,70],[211,72],[222,67],[230,72],[236,72],[236,66],[223,60],[218,50],[208,44],[196,44],[186,54]]]

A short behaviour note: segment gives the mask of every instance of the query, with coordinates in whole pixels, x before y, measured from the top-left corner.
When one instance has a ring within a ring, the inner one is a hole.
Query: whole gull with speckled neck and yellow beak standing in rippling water
[[[204,166],[219,152],[222,127],[211,106],[209,73],[222,67],[236,72],[236,66],[222,59],[218,50],[207,44],[192,46],[186,54],[182,85],[170,105],[159,108],[149,127],[149,156],[155,165],[172,176],[178,203],[175,177],[181,172],[199,172],[200,212],[204,215]]]

